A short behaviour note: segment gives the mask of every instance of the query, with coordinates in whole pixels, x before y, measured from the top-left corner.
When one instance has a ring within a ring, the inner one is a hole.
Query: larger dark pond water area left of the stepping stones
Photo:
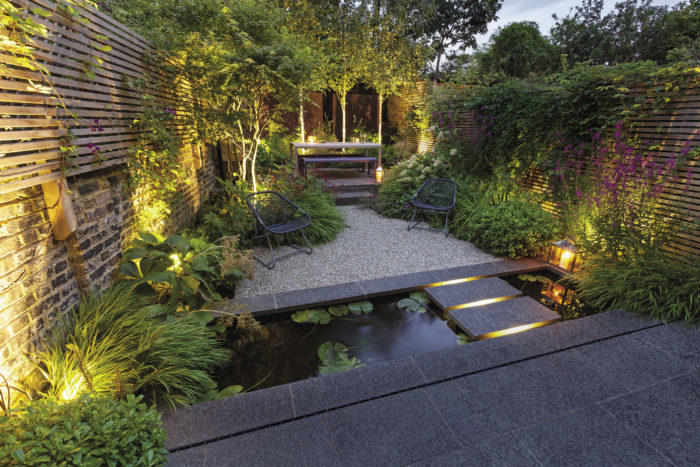
[[[373,299],[371,313],[329,324],[295,323],[290,314],[263,322],[260,338],[231,343],[234,356],[219,372],[220,387],[262,389],[316,376],[316,352],[326,341],[344,344],[349,357],[367,365],[459,345],[453,324],[432,305],[423,314],[399,310],[396,302],[405,296]]]

